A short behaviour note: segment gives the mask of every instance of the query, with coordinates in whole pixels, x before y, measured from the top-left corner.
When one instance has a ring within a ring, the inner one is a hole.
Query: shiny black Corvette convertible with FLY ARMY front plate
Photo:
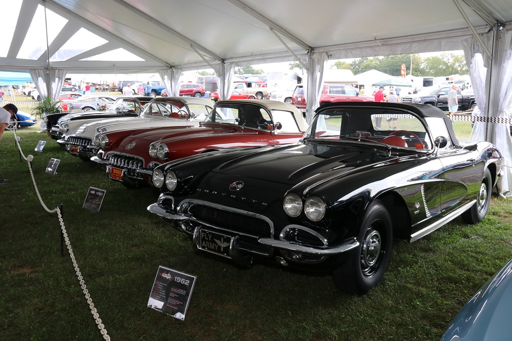
[[[382,280],[393,238],[484,219],[502,162],[491,143],[459,143],[433,106],[329,103],[298,143],[157,167],[162,194],[148,210],[200,250],[333,270],[338,288],[361,294]]]

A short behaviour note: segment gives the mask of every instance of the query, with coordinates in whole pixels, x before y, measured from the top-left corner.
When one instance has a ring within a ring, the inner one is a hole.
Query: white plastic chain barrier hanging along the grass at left
[[[37,189],[37,184],[35,183],[34,173],[32,172],[32,165],[30,164],[30,162],[32,161],[32,159],[34,157],[32,155],[25,157],[25,155],[22,152],[22,148],[19,145],[19,137],[16,136],[16,129],[14,129],[13,132],[14,132],[14,139],[16,141],[16,145],[18,146],[19,153],[27,161],[27,163],[29,165],[30,177],[32,178],[32,182],[34,184],[37,198],[39,198],[39,202],[41,203],[42,207],[47,212],[49,212],[49,213],[57,212],[57,216],[59,218],[60,229],[62,230],[62,236],[64,236],[64,240],[66,241],[66,246],[68,247],[71,261],[73,262],[73,267],[75,268],[76,275],[78,276],[78,281],[80,283],[80,287],[82,288],[84,295],[86,295],[87,303],[89,304],[91,313],[94,316],[94,321],[98,325],[98,329],[100,330],[101,335],[103,335],[103,339],[110,340],[110,335],[107,334],[105,326],[101,323],[101,318],[99,318],[98,310],[94,307],[94,303],[93,303],[93,300],[91,299],[91,295],[89,294],[89,290],[87,290],[87,286],[86,286],[85,282],[83,281],[82,274],[80,272],[80,269],[78,268],[78,264],[76,263],[75,255],[73,253],[73,249],[71,248],[71,243],[68,238],[68,232],[66,232],[66,226],[64,226],[64,221],[62,220],[62,214],[60,212],[60,209],[58,207],[55,207],[54,209],[51,210],[42,201],[41,195],[39,194],[39,190]]]

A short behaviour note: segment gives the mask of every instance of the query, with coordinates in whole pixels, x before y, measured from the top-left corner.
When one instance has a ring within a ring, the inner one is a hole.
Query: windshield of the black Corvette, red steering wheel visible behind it
[[[408,111],[384,108],[331,108],[318,112],[304,139],[358,141],[428,149],[432,139],[422,121]]]

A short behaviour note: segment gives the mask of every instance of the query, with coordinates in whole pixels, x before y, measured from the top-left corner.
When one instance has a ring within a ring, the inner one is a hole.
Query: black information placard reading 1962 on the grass
[[[160,265],[147,306],[183,321],[195,282],[196,276]]]

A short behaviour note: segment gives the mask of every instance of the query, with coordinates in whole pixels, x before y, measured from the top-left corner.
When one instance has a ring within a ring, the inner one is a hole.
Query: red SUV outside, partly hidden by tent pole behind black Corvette
[[[320,103],[323,102],[374,102],[373,96],[361,95],[359,90],[348,84],[324,84],[324,90],[320,95]],[[298,84],[293,92],[291,103],[303,112],[306,111],[306,97],[302,84]]]

